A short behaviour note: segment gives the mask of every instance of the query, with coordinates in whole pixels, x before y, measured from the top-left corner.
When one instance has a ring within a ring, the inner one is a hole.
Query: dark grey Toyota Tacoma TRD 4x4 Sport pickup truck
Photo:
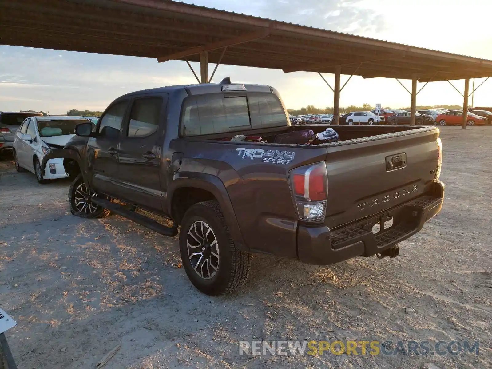
[[[437,127],[331,126],[338,140],[317,139],[327,127],[292,126],[274,88],[225,79],[125,94],[44,160],[63,157],[75,178],[73,215],[179,233],[187,276],[218,295],[244,283],[252,253],[395,257],[440,211]]]

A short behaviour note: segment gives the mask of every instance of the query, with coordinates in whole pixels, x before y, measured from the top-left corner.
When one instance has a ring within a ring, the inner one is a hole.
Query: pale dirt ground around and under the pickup
[[[442,212],[395,259],[253,259],[235,295],[188,281],[178,241],[69,213],[69,182],[0,162],[0,307],[24,368],[492,368],[492,127],[442,127]],[[415,313],[405,313],[413,307]],[[480,354],[240,356],[240,340],[480,341]],[[249,361],[250,360],[250,361]]]

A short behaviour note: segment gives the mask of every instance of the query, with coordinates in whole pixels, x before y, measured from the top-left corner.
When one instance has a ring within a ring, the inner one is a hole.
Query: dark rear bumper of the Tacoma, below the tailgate
[[[430,192],[394,209],[331,231],[326,225],[300,225],[297,254],[300,261],[329,265],[355,256],[369,257],[397,245],[419,232],[424,223],[439,213],[444,200],[444,184],[433,184]],[[392,216],[393,225],[377,234],[372,226],[382,216]]]

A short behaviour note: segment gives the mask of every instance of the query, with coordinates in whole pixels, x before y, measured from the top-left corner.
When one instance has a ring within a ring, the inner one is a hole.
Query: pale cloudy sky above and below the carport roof
[[[185,0],[218,9],[347,32],[414,46],[492,60],[492,1],[485,0]],[[468,14],[462,21],[462,14]],[[481,17],[480,14],[485,14]],[[462,22],[462,23],[461,23]],[[194,65],[195,68],[198,65]],[[210,68],[214,66],[211,64]],[[214,82],[269,84],[288,108],[308,104],[333,106],[333,92],[316,73],[221,65]],[[333,75],[326,75],[333,82]],[[342,84],[348,76],[342,76]],[[476,84],[481,80],[476,80]],[[70,109],[104,110],[131,91],[195,83],[185,62],[0,46],[0,111],[42,110],[64,114]],[[403,81],[410,89],[411,82]],[[455,81],[463,88],[463,81]],[[420,88],[422,84],[419,84]],[[475,93],[475,105],[491,106],[492,79]],[[396,80],[354,76],[340,104],[399,108],[410,95]],[[418,105],[462,104],[447,82],[426,86]]]

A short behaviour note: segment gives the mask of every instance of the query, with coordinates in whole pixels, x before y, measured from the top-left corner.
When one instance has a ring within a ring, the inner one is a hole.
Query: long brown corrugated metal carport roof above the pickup
[[[0,2],[0,44],[420,82],[492,76],[492,61],[168,0]],[[227,46],[225,53],[223,48]]]

